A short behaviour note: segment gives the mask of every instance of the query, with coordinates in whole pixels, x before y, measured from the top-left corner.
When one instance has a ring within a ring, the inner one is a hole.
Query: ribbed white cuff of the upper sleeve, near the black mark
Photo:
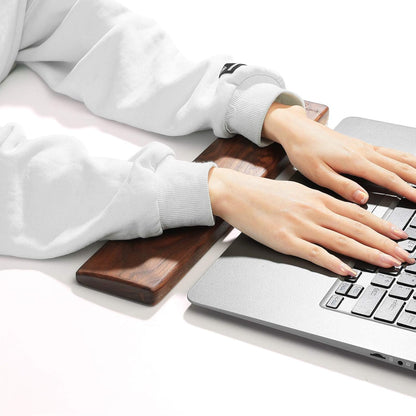
[[[255,77],[253,77],[255,78]],[[261,137],[264,119],[273,102],[305,106],[298,95],[267,82],[242,83],[234,92],[226,115],[227,130],[241,134],[260,147],[273,143]]]

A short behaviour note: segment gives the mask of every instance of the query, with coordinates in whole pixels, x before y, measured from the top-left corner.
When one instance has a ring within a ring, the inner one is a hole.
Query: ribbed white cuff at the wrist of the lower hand
[[[208,172],[214,166],[214,162],[185,162],[173,156],[158,165],[162,229],[215,224],[208,190]]]

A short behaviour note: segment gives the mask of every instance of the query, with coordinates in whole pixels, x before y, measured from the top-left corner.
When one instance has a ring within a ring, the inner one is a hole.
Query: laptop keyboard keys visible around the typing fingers
[[[399,245],[416,257],[416,204],[393,195],[370,194],[367,209],[404,229],[409,238]],[[355,261],[352,267],[357,276],[337,279],[321,306],[416,331],[416,263],[383,269]]]

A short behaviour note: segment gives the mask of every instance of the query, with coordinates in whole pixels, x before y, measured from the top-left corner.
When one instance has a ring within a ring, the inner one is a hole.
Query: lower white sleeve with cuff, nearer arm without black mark
[[[213,225],[208,171],[161,144],[130,161],[91,157],[78,140],[26,140],[0,128],[0,254],[50,258],[102,239],[151,237]]]

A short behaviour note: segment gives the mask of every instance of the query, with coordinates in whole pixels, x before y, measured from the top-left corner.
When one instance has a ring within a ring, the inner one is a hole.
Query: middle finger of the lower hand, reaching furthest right
[[[403,250],[395,241],[359,221],[352,220],[351,218],[342,215],[329,213],[322,218],[320,225],[350,237],[368,247],[373,247],[389,254],[400,262],[414,263],[414,260],[409,256],[409,253],[406,250]]]

